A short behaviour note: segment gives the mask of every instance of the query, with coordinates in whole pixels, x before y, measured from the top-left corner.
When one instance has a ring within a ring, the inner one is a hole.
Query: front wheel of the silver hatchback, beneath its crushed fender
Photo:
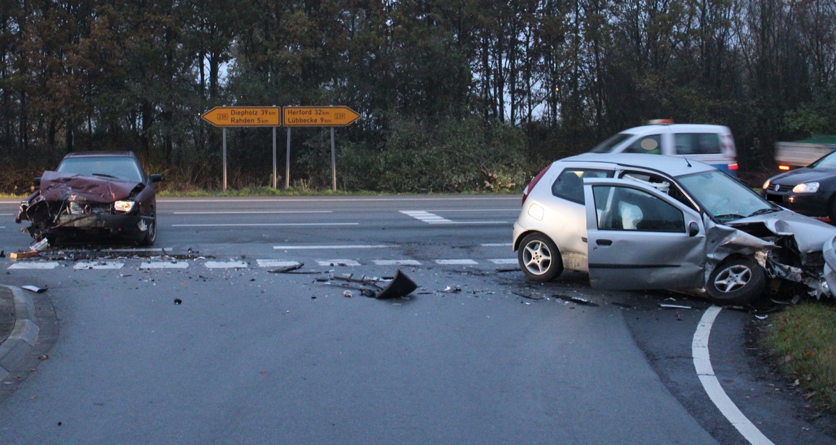
[[[752,258],[723,261],[708,275],[706,290],[716,304],[749,304],[767,287],[767,274]]]

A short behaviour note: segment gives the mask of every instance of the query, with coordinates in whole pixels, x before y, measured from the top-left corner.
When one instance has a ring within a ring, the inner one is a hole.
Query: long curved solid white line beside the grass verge
[[[711,357],[708,351],[708,337],[711,335],[711,326],[714,325],[714,320],[721,311],[720,306],[712,305],[706,309],[706,313],[702,315],[700,325],[697,326],[694,332],[694,340],[691,342],[691,355],[694,358],[694,369],[696,375],[700,377],[702,387],[711,398],[711,402],[726,416],[729,422],[737,428],[747,441],[753,445],[771,445],[766,436],[761,430],[757,429],[755,425],[747,419],[740,411],[737,405],[732,402],[732,399],[723,391],[720,381],[714,375],[714,368],[711,366]]]

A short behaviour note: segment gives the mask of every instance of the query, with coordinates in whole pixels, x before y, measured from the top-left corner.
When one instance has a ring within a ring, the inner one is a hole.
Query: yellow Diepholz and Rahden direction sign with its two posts
[[[203,120],[223,129],[223,190],[227,191],[227,127],[273,127],[273,188],[276,188],[276,128],[282,125],[278,106],[217,106],[201,115]]]

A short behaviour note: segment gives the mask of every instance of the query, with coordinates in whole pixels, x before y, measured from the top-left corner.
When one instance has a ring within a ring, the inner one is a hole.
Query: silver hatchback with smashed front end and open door
[[[535,176],[513,249],[528,279],[563,269],[600,289],[705,289],[718,304],[773,291],[833,296],[836,228],[683,157],[587,153]]]

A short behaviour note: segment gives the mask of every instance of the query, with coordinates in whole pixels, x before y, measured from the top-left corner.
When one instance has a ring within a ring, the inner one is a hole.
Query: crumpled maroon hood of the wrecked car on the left
[[[45,201],[74,201],[108,203],[130,197],[141,182],[111,177],[81,176],[75,173],[44,171],[40,195]]]

